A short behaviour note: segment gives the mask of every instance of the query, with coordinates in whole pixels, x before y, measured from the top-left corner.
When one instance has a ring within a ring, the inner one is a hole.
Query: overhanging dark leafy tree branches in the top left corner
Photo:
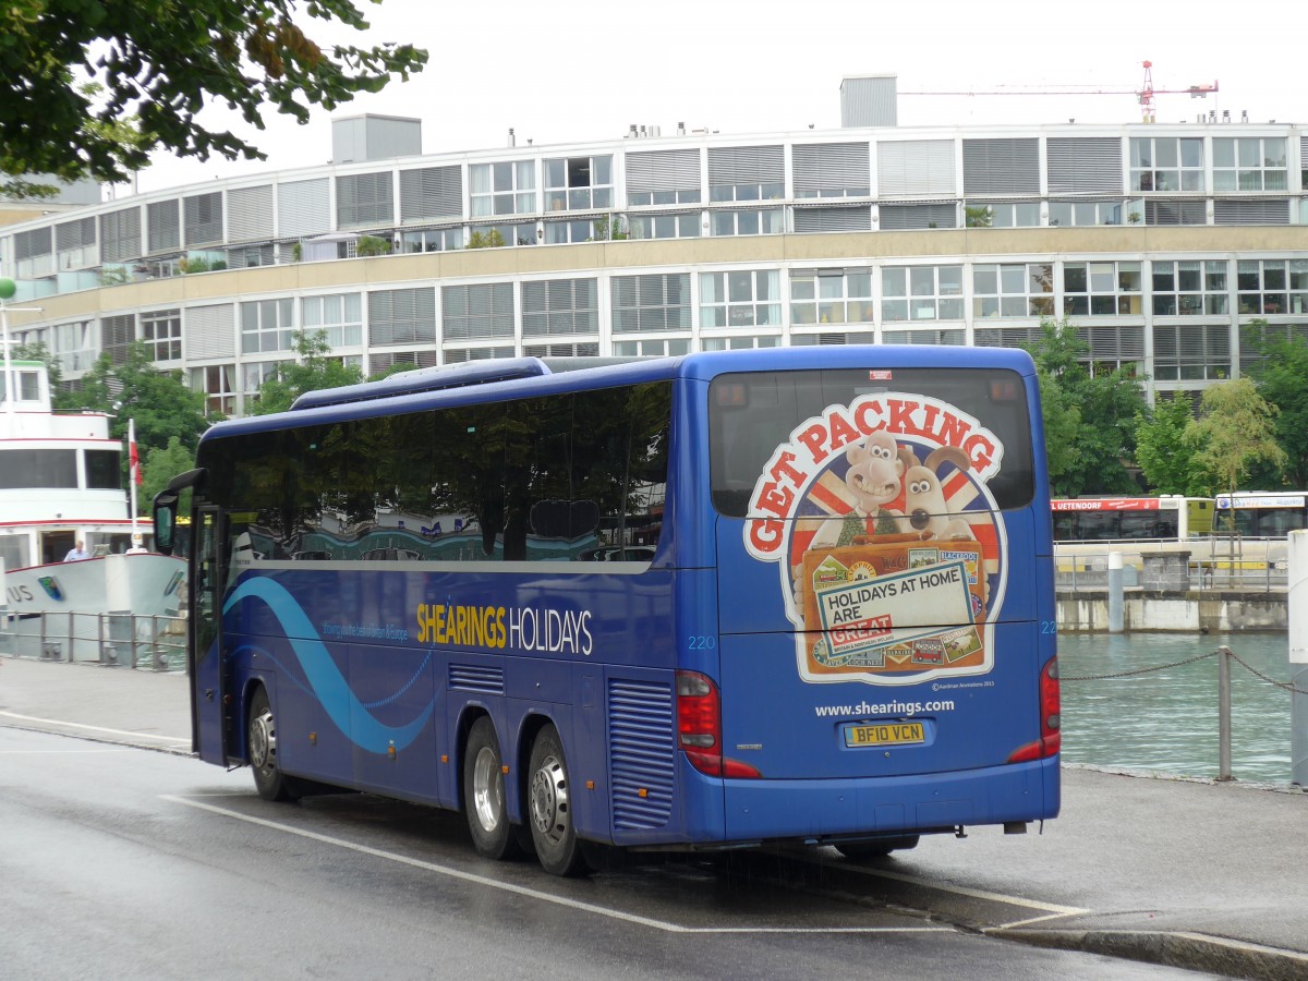
[[[368,27],[352,0],[302,9],[301,18]],[[334,110],[426,63],[412,44],[323,48],[297,13],[284,0],[12,0],[0,10],[0,69],[10,80],[0,171],[123,182],[154,148],[263,160],[258,146],[201,126],[200,110],[225,103],[263,129],[271,107],[303,124],[311,106]],[[124,118],[135,119],[128,132]]]

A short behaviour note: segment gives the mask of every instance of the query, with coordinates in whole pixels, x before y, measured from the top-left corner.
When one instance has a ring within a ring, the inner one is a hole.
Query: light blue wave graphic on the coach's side
[[[378,722],[349,689],[349,683],[336,667],[336,662],[327,651],[327,645],[314,630],[313,621],[284,586],[272,579],[246,579],[228,598],[222,612],[229,612],[247,598],[262,599],[272,611],[277,623],[286,632],[286,640],[296,653],[296,659],[300,662],[305,678],[309,679],[314,696],[326,709],[336,729],[348,734],[352,743],[374,753],[385,753],[392,744],[396,749],[403,749],[426,726],[428,718],[436,709],[434,698],[408,725],[387,726]],[[310,637],[313,640],[309,640]]]

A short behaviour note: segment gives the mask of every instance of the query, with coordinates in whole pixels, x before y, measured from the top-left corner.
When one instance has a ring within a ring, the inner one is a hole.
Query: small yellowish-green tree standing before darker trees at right
[[[1286,453],[1273,437],[1275,417],[1277,407],[1248,378],[1205,390],[1202,413],[1185,438],[1196,447],[1196,468],[1207,477],[1206,493],[1239,489],[1260,460],[1284,466]]]

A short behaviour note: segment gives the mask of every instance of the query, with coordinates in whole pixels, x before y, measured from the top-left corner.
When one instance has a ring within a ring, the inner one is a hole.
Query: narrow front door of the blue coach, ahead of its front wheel
[[[230,658],[224,654],[222,594],[226,581],[224,515],[204,505],[195,511],[191,553],[191,704],[192,748],[200,759],[225,766],[232,742],[234,692]]]

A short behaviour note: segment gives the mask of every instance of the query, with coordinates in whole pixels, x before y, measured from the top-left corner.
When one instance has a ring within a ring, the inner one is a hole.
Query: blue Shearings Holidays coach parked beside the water
[[[209,429],[164,548],[186,489],[195,751],[264,798],[458,808],[561,875],[1058,812],[1020,351],[417,370]]]

